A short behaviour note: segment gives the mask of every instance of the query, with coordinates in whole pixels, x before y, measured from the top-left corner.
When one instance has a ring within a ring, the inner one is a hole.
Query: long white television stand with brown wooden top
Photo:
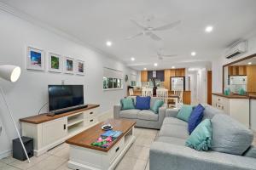
[[[100,105],[88,105],[55,116],[41,114],[20,119],[22,136],[34,139],[34,156],[63,143],[98,122]]]

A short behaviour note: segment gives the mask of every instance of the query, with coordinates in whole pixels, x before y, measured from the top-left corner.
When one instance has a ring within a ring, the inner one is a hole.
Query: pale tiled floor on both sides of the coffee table
[[[157,130],[136,127],[137,139],[119,162],[116,170],[148,170],[149,147],[157,133]],[[68,170],[68,154],[68,144],[61,144],[43,156],[32,157],[31,163],[18,161],[12,157],[4,158],[0,160],[0,170]]]

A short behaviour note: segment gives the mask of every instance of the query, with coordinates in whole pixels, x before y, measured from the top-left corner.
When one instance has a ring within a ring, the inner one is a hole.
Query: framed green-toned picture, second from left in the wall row
[[[62,57],[60,54],[49,53],[48,70],[52,72],[62,72]]]

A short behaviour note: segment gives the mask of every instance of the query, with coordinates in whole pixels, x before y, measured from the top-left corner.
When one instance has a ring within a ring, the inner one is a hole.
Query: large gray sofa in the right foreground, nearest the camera
[[[203,119],[212,119],[212,141],[214,140],[214,135],[217,135],[214,133],[214,130],[218,128],[216,131],[223,130],[223,134],[236,134],[236,132],[243,133],[244,131],[244,136],[239,134],[236,138],[230,140],[241,138],[245,139],[245,143],[249,144],[252,142],[253,133],[245,129],[239,122],[231,119],[230,116],[224,115],[223,112],[210,105],[205,105],[205,108]],[[253,157],[238,156],[212,150],[197,151],[185,146],[185,141],[189,138],[188,123],[177,119],[176,116],[177,110],[166,110],[166,118],[160,128],[159,135],[150,148],[150,170],[256,170],[256,159]],[[226,127],[227,129],[225,129]],[[233,130],[233,128],[235,129]],[[217,140],[214,141],[214,144],[221,144],[221,140],[225,138],[225,135],[215,137],[215,140]],[[232,150],[232,147],[230,147],[229,151],[234,151],[234,153],[237,151],[241,152],[244,150],[245,143],[242,143],[241,148],[237,150]],[[223,151],[223,148],[216,147],[214,150]]]

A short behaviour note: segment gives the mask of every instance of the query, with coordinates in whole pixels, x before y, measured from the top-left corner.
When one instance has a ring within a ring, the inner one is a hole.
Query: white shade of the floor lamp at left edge
[[[20,67],[16,65],[0,65],[0,77],[9,82],[16,82],[20,77]]]

